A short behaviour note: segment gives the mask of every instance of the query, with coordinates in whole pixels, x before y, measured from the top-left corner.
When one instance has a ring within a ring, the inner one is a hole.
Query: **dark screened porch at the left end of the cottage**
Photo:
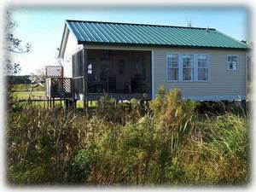
[[[89,99],[108,94],[117,99],[151,99],[151,51],[87,49],[83,76],[83,50],[73,55],[74,93],[81,99],[87,79]]]

